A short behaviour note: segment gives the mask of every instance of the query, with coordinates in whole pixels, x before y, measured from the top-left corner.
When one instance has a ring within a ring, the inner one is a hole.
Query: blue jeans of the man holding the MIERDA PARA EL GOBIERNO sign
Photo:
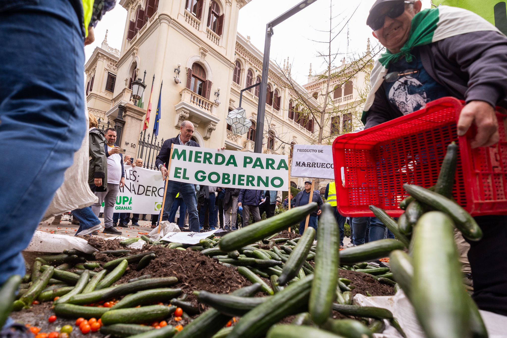
[[[169,220],[169,211],[171,210],[172,202],[174,202],[176,195],[180,192],[189,212],[190,231],[198,233],[199,215],[197,214],[197,198],[195,197],[194,184],[175,181],[168,182],[169,185],[167,186],[162,220]]]

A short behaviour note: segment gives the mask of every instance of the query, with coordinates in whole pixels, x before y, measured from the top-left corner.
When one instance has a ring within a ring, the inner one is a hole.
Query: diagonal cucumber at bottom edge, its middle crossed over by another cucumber
[[[245,297],[252,296],[260,289],[261,284],[255,283],[238,289],[231,294]],[[185,326],[184,329],[178,333],[178,338],[210,338],[223,328],[230,319],[230,316],[223,315],[215,309],[209,309]]]

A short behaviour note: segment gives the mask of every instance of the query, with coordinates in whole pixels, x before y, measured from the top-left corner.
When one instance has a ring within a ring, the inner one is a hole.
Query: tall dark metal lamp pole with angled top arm
[[[259,106],[257,107],[257,134],[255,137],[254,153],[262,153],[262,139],[264,137],[264,116],[266,114],[266,89],[268,87],[269,72],[269,53],[271,49],[271,36],[273,35],[273,27],[298,13],[308,5],[313,4],[317,0],[304,0],[289,9],[276,19],[268,22],[266,25],[266,40],[264,41],[264,58],[262,60],[262,80],[259,90]]]

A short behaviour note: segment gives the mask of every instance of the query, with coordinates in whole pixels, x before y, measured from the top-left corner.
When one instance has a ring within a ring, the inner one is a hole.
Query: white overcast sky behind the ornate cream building
[[[172,1],[172,0],[163,0]],[[251,0],[239,11],[238,32],[250,36],[251,42],[261,51],[264,50],[266,23],[276,18],[301,0]],[[332,11],[334,53],[341,53],[335,64],[346,56],[347,60],[366,50],[367,39],[372,45],[376,40],[371,29],[366,25],[366,18],[374,0],[344,1],[316,0],[293,17],[274,28],[271,39],[271,59],[283,65],[289,58],[292,64],[292,76],[301,85],[307,83],[307,76],[312,63],[313,73],[326,67],[318,52],[327,52],[327,44],[315,41],[329,41],[330,10]],[[423,8],[429,8],[429,0],[423,0]],[[85,47],[86,60],[96,46],[100,46],[108,29],[107,43],[110,47],[120,48],[123,39],[127,11],[118,3],[107,12],[95,28],[95,43]],[[348,40],[347,40],[348,20]],[[328,30],[328,32],[322,32]],[[342,30],[340,32],[340,30]],[[339,33],[340,32],[340,33]],[[348,46],[348,48],[347,48]],[[348,50],[348,53],[347,53]]]

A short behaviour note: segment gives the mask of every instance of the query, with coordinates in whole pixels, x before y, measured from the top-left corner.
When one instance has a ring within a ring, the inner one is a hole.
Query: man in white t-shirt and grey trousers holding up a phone
[[[125,171],[123,170],[123,155],[120,154],[121,148],[116,146],[116,130],[107,128],[105,130],[104,145],[105,155],[107,157],[107,191],[95,192],[98,202],[92,205],[92,210],[98,216],[100,206],[104,202],[104,234],[121,235],[122,232],[114,228],[113,211],[115,208],[116,197],[120,192],[120,187],[125,185]]]

